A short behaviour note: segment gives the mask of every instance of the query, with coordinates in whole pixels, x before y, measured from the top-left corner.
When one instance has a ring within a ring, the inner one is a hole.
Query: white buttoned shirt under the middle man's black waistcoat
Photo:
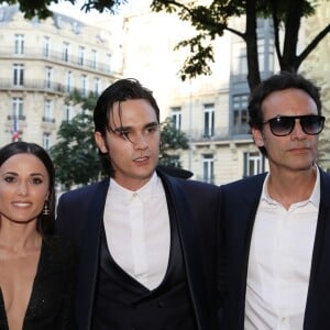
[[[105,207],[109,251],[133,278],[148,289],[163,280],[169,256],[169,218],[162,180],[156,174],[136,191],[110,179]]]

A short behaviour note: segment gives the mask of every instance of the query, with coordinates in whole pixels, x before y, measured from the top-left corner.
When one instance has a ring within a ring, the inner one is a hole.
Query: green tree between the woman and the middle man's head
[[[81,112],[70,121],[63,121],[57,132],[57,143],[51,147],[56,169],[56,179],[65,187],[87,185],[102,174],[97,146],[94,141],[91,109],[96,95],[82,98],[75,91],[67,102],[81,103]]]

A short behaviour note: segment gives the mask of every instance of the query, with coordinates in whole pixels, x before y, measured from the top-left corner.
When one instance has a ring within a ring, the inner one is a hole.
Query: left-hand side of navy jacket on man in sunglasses
[[[224,329],[232,324],[237,324],[238,329],[244,327],[249,250],[265,177],[266,174],[261,174],[220,187],[220,223],[224,245],[220,249],[220,260],[226,270],[224,279],[220,283],[224,283],[222,295],[227,297],[223,308]],[[233,294],[228,295],[227,287]]]

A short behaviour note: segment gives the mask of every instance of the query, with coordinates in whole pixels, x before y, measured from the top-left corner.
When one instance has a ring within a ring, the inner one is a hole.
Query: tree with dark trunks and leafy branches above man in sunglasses
[[[210,74],[209,63],[213,62],[212,41],[222,36],[224,31],[242,37],[246,44],[248,81],[252,89],[261,81],[257,56],[256,23],[258,18],[270,18],[274,26],[274,41],[277,59],[282,70],[297,72],[304,59],[318,43],[330,32],[330,24],[319,31],[314,40],[297,55],[298,33],[301,18],[315,14],[319,1],[307,0],[213,0],[208,6],[199,1],[183,2],[176,0],[154,0],[154,11],[177,12],[183,21],[188,21],[196,29],[197,35],[180,42],[177,47],[189,47],[191,55],[182,68],[182,78],[195,78]],[[230,26],[231,18],[245,15],[245,31]],[[284,31],[280,45],[279,32]]]

